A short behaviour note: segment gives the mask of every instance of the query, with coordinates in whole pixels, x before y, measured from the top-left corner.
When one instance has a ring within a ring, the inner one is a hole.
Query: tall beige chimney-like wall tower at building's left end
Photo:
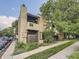
[[[27,9],[24,5],[21,6],[20,17],[18,21],[18,41],[26,43],[27,41]]]

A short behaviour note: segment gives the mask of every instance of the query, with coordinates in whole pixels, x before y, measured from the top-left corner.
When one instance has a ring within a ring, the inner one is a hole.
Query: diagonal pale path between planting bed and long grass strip
[[[55,46],[58,46],[60,44],[64,44],[66,42],[69,42],[69,41],[62,41],[62,42],[58,42],[56,44],[52,44],[52,45],[49,45],[49,46],[42,46],[42,47],[39,47],[37,49],[34,49],[32,51],[29,51],[29,52],[25,52],[25,53],[22,53],[22,54],[19,54],[19,55],[16,55],[16,56],[13,56],[13,59],[24,59],[25,57],[28,57],[32,54],[36,54],[36,53],[39,53],[39,52],[42,52],[46,49],[49,49],[49,48],[52,48],[52,47],[55,47]]]

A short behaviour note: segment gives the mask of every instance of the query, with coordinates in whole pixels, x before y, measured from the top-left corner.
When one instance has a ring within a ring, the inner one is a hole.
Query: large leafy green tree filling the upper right
[[[56,28],[59,33],[79,33],[78,0],[48,0],[41,6],[40,11],[48,22],[51,21],[52,31]],[[47,25],[50,27],[49,23]]]

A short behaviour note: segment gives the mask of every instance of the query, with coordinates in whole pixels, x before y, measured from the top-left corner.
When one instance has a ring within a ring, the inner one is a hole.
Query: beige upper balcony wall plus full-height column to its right
[[[27,26],[27,29],[38,30],[38,43],[43,43],[42,40],[42,32],[44,31],[43,22],[44,22],[43,18],[39,17],[38,24],[33,23],[33,26],[29,26],[30,22],[28,22],[28,26]]]

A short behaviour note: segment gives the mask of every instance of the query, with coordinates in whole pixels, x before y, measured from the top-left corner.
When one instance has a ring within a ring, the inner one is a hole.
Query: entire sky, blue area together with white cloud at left
[[[47,0],[0,0],[0,30],[11,26],[19,17],[22,4],[26,5],[29,13],[37,15],[45,2]]]

